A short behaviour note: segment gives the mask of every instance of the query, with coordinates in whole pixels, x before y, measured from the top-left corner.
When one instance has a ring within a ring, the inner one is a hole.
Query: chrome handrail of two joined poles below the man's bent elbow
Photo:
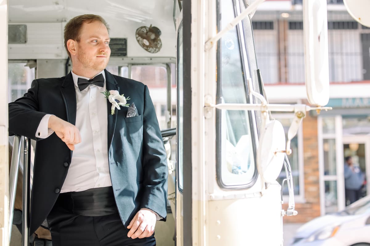
[[[22,246],[29,245],[29,218],[30,218],[30,173],[31,173],[31,142],[24,136],[14,136],[13,151],[9,173],[9,242],[13,226],[14,201],[17,190],[18,170],[20,169],[20,155],[23,141],[23,208],[22,208]]]

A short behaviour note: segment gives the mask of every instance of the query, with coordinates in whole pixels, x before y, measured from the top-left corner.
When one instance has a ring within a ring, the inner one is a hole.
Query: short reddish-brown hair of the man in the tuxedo
[[[93,21],[100,21],[108,30],[109,33],[109,25],[108,23],[100,16],[96,14],[83,14],[73,17],[70,21],[68,21],[67,25],[64,27],[64,47],[67,50],[68,56],[71,57],[70,52],[67,48],[67,41],[69,39],[73,39],[77,42],[80,42],[80,30],[84,23],[91,23]]]

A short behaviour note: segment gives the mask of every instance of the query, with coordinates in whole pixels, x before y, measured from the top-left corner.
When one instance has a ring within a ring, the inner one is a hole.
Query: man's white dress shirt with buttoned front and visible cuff
[[[105,83],[103,87],[91,84],[80,91],[78,78],[90,78],[71,73],[77,100],[75,126],[80,131],[81,143],[75,145],[61,193],[112,186],[108,166],[107,98],[101,93],[106,90]],[[105,79],[104,71],[101,74]],[[38,138],[53,134],[47,128],[50,116],[45,115],[41,120],[36,132]]]

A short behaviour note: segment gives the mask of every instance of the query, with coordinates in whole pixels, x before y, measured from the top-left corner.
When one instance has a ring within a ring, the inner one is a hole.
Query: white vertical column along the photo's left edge
[[[9,245],[8,8],[0,0],[0,246]]]

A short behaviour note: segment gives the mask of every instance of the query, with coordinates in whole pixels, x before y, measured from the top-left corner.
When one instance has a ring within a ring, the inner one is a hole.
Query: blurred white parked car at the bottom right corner
[[[292,246],[370,246],[370,195],[302,225]]]

